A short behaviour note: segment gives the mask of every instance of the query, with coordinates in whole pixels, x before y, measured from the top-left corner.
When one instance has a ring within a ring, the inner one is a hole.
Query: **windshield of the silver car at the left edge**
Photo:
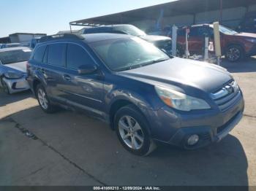
[[[30,55],[29,49],[4,51],[0,52],[0,61],[2,64],[29,61]]]

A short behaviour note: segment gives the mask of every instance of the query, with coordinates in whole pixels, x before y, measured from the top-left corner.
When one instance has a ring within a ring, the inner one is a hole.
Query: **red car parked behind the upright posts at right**
[[[209,24],[189,26],[189,52],[203,55],[205,36],[214,42],[214,26]],[[235,62],[246,56],[256,55],[256,34],[238,33],[225,26],[219,26],[222,55]],[[186,28],[178,29],[177,43],[185,50]]]

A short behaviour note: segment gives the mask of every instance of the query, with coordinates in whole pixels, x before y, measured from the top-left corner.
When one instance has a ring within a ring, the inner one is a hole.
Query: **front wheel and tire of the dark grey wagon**
[[[135,106],[119,109],[114,125],[119,141],[132,154],[146,156],[156,149],[148,133],[148,122]]]

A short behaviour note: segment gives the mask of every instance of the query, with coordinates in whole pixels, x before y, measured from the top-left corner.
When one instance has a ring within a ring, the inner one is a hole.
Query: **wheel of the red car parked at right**
[[[225,58],[227,59],[227,61],[237,62],[244,59],[244,57],[245,54],[242,47],[238,45],[230,45],[229,47],[227,47],[227,50],[225,52]]]

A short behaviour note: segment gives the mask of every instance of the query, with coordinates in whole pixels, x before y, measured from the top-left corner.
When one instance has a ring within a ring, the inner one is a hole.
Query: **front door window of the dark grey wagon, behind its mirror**
[[[67,68],[78,69],[79,66],[94,64],[89,54],[77,44],[67,45]]]

